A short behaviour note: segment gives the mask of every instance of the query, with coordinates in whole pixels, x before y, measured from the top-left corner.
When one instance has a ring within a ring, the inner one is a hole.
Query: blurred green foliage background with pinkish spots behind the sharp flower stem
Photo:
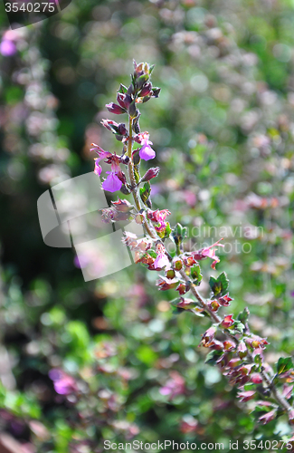
[[[133,58],[155,63],[162,92],[140,109],[161,168],[153,207],[188,227],[187,249],[223,236],[204,280],[225,270],[229,313],[249,307],[270,364],[291,355],[293,2],[73,0],[15,31],[0,7],[0,428],[29,453],[289,438],[286,419],[256,427],[204,364],[207,320],[175,316],[140,265],[85,283],[71,249],[43,244],[36,203],[93,169],[92,141],[119,152],[105,104]],[[54,368],[72,391],[56,391]]]

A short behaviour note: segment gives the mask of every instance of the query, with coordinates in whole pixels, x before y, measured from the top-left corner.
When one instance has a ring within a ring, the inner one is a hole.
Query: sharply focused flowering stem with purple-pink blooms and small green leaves
[[[249,310],[233,318],[232,314],[223,314],[223,308],[230,305],[229,280],[223,272],[217,278],[211,276],[209,285],[211,295],[208,300],[199,293],[203,275],[199,263],[208,258],[213,260],[212,268],[220,261],[216,255],[220,241],[197,251],[185,251],[186,228],[177,224],[172,228],[166,221],[169,210],[152,210],[151,179],[159,173],[158,167],[140,174],[140,161],[156,157],[147,131],[139,127],[140,112],[138,105],[159,96],[160,89],[150,82],[153,66],[134,62],[134,72],[128,87],[120,85],[117,102],[106,105],[111,113],[128,114],[128,127],[125,123],[114,120],[102,120],[102,125],[115,134],[122,142],[120,156],[92,144],[91,150],[98,157],[95,160],[95,173],[100,176],[100,160],[108,163],[111,170],[102,183],[102,188],[109,192],[131,194],[134,205],[126,199],[112,201],[112,206],[103,209],[106,222],[134,219],[145,230],[144,238],[134,233],[125,232],[123,241],[135,254],[136,263],[147,265],[151,271],[160,272],[157,286],[160,291],[174,289],[177,297],[171,301],[175,311],[188,311],[197,316],[209,316],[213,325],[203,334],[200,345],[209,349],[206,362],[216,365],[227,376],[230,383],[238,387],[241,401],[254,400],[254,414],[258,421],[267,424],[272,419],[287,414],[289,424],[294,425],[293,384],[294,366],[290,357],[280,357],[273,370],[264,360],[263,351],[269,344],[266,338],[251,333],[248,323]],[[120,166],[124,166],[123,171]],[[166,239],[175,243],[175,253],[166,249]],[[192,294],[188,298],[186,294]],[[292,438],[294,439],[294,438]]]

